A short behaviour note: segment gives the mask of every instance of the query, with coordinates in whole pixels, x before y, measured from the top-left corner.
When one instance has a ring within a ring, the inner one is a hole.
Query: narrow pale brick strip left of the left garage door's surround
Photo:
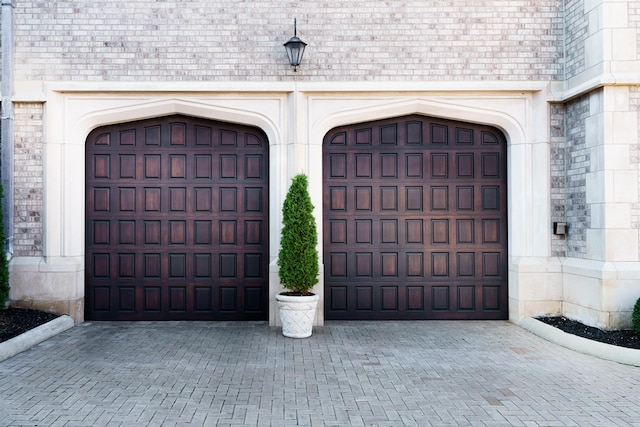
[[[15,106],[14,254],[17,256],[42,256],[43,251],[42,112],[43,104]]]

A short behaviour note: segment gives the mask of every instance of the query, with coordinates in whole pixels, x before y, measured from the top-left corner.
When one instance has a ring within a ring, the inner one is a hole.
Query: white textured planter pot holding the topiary
[[[313,320],[316,317],[318,295],[289,296],[276,295],[282,335],[289,338],[307,338],[313,332]]]

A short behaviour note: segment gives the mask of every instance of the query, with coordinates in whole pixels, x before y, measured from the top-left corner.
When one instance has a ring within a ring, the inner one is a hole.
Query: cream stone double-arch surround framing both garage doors
[[[239,89],[239,87],[238,87]],[[255,88],[254,88],[255,89]],[[268,89],[268,87],[267,87]],[[544,90],[368,90],[273,86],[273,90],[108,90],[46,93],[44,256],[12,260],[13,299],[40,301],[83,320],[84,144],[102,125],[185,114],[260,127],[270,141],[270,296],[280,206],[290,177],[306,172],[322,227],[322,138],[333,127],[422,114],[500,128],[508,139],[509,295],[514,321],[560,312],[562,274],[550,258],[548,104]],[[321,244],[321,243],[320,243]],[[322,253],[320,248],[320,253]],[[541,276],[543,275],[544,278]],[[322,283],[322,273],[320,283]],[[322,286],[316,287],[322,307]],[[271,298],[273,300],[273,298]],[[37,305],[37,304],[35,304]],[[60,308],[62,307],[62,308]],[[322,310],[316,324],[323,324]],[[279,323],[275,304],[270,324]]]

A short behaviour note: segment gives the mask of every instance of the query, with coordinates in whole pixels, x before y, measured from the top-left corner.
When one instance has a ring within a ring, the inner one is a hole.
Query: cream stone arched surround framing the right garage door
[[[509,317],[561,312],[562,277],[550,254],[548,112],[533,94],[446,94],[418,96],[308,95],[309,141],[305,170],[316,210],[322,206],[322,138],[334,127],[422,114],[501,129],[507,137],[509,218]],[[540,130],[542,129],[542,132]],[[322,218],[322,214],[317,214]],[[322,224],[318,224],[322,235]],[[318,289],[321,293],[322,290]],[[321,294],[320,306],[324,302]]]

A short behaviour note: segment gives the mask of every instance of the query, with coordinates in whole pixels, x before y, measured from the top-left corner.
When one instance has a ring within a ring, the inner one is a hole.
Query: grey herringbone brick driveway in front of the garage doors
[[[96,322],[0,363],[0,425],[640,426],[639,390],[509,322]]]

